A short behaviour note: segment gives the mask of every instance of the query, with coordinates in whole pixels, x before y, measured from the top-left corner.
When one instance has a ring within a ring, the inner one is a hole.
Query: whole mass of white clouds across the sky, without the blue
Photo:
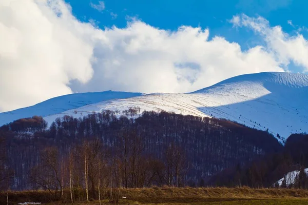
[[[302,36],[287,36],[265,19],[237,22],[267,44],[243,51],[209,38],[208,29],[168,31],[138,19],[102,30],[76,19],[62,0],[0,1],[0,111],[72,92],[189,92],[240,74],[284,71],[290,60],[308,67]]]

